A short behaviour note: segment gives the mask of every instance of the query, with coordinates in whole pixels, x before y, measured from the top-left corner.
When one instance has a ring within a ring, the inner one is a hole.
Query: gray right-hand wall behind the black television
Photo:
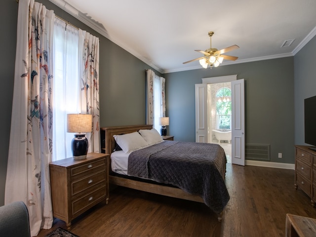
[[[297,145],[306,145],[304,143],[304,99],[316,95],[315,62],[316,37],[294,56],[295,144]]]

